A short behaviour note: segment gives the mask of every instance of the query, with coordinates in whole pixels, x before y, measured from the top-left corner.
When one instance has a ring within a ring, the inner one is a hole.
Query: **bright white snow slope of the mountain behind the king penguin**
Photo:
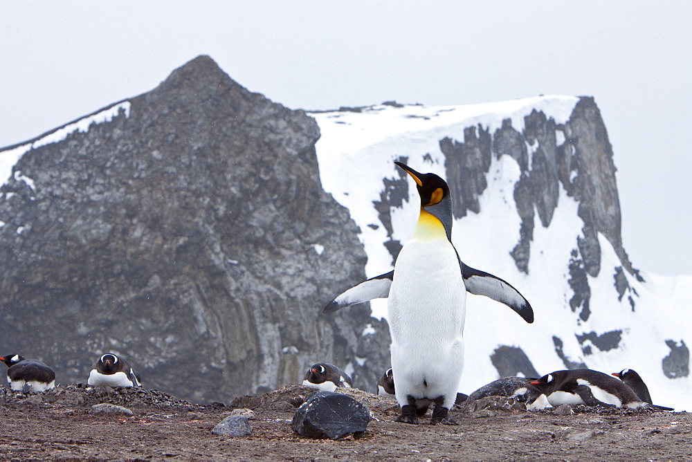
[[[511,127],[522,132],[531,111],[542,111],[563,127],[577,102],[579,98],[551,96],[464,107],[383,104],[311,113],[322,133],[316,146],[322,185],[349,209],[361,229],[367,276],[392,269],[392,253],[385,243],[405,243],[417,221],[419,199],[411,182],[408,200],[389,207],[386,219],[391,219],[391,232],[383,222],[386,185],[402,178],[394,160],[404,158],[419,172],[446,178],[454,160],[442,152],[443,138],[464,142],[467,127],[494,133],[508,118]],[[565,141],[564,133],[556,130],[558,147]],[[538,140],[526,145],[530,165]],[[692,410],[692,398],[686,392],[692,389],[686,347],[692,342],[692,317],[686,313],[692,277],[648,272],[639,272],[637,277],[636,271],[623,271],[627,265],[611,241],[598,233],[600,271],[597,277],[585,275],[590,315],[580,315],[570,306],[574,296],[570,263],[579,252],[576,242],[584,226],[579,202],[561,183],[549,225],[541,225],[538,216],[534,219],[529,264],[527,271],[521,271],[510,254],[520,239],[522,219],[515,185],[521,174],[514,158],[493,154],[486,187],[477,198],[480,213],[468,212],[455,219],[453,241],[466,264],[518,288],[534,307],[536,322],[526,324],[506,306],[470,295],[461,391],[469,393],[498,378],[491,358],[504,346],[523,351],[539,375],[580,364],[605,373],[635,369],[646,381],[654,403]],[[450,183],[450,189],[455,188],[459,185]],[[386,317],[386,300],[372,302],[372,312]]]

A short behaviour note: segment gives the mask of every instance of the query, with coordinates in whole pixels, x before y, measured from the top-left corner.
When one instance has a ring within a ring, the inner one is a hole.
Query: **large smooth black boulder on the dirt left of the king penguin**
[[[316,391],[295,411],[291,428],[307,438],[337,440],[365,432],[369,422],[367,406],[354,398],[331,391]]]

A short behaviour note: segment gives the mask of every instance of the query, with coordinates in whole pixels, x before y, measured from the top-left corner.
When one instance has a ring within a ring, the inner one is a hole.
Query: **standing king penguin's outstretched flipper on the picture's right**
[[[505,304],[516,311],[529,324],[534,322],[533,308],[531,308],[528,300],[516,288],[513,288],[509,282],[488,272],[466,266],[461,259],[459,259],[459,266],[462,267],[464,286],[466,286],[468,293],[484,295],[495,300],[495,302]]]

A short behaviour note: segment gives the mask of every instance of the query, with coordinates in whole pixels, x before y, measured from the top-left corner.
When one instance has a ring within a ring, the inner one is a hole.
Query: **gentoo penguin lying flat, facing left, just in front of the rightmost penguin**
[[[617,378],[592,369],[554,371],[531,382],[545,393],[553,406],[563,404],[588,406],[610,405],[641,409],[647,406],[662,411],[670,407],[644,403],[630,387]]]

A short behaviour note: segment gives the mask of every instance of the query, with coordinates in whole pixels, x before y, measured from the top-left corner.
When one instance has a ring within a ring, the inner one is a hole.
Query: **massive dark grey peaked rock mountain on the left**
[[[366,257],[320,185],[316,122],[209,57],[129,102],[28,151],[3,186],[3,341],[63,383],[124,354],[147,387],[193,401],[298,383],[322,361],[376,380],[386,353],[354,361],[369,306],[320,316]],[[368,340],[387,345],[380,324]]]

